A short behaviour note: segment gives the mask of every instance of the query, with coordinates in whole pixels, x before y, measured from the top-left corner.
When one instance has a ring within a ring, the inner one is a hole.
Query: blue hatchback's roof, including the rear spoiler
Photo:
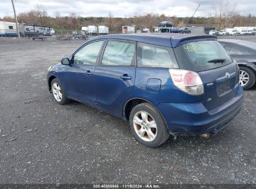
[[[165,47],[178,47],[181,44],[187,42],[193,42],[198,40],[217,40],[214,35],[193,35],[193,34],[174,34],[174,33],[140,33],[140,34],[111,34],[95,37],[92,40],[97,39],[123,39],[134,40],[137,42],[143,42],[148,44],[162,45]],[[170,43],[171,40],[171,43]]]

